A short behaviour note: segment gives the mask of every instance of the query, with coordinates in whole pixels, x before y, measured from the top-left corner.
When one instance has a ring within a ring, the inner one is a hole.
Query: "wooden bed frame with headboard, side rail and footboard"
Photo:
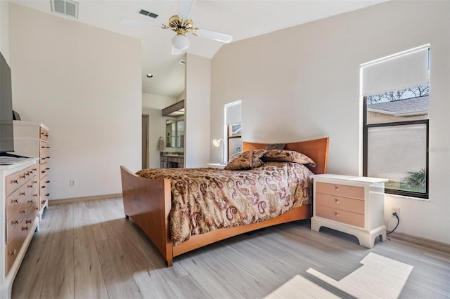
[[[311,171],[316,174],[326,173],[328,142],[328,137],[293,142],[286,144],[285,150],[295,150],[306,154],[316,162],[316,167],[309,167]],[[243,142],[243,151],[264,149],[266,145],[265,143]],[[295,220],[309,219],[312,215],[311,204],[303,205],[270,220],[238,227],[221,228],[206,234],[198,234],[191,236],[190,239],[178,246],[172,246],[169,235],[169,212],[172,208],[170,180],[141,178],[131,173],[124,166],[120,166],[120,171],[126,217],[131,217],[141,227],[158,248],[162,257],[165,258],[166,265],[169,267],[172,266],[175,256],[196,248],[264,227]]]

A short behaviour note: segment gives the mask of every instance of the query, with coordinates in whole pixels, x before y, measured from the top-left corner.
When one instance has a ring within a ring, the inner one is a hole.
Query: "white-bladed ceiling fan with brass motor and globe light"
[[[194,0],[180,0],[179,14],[172,15],[169,18],[168,25],[158,22],[146,22],[142,20],[122,19],[124,24],[140,25],[146,27],[160,27],[162,29],[172,29],[176,35],[172,38],[172,54],[179,54],[191,45],[191,40],[186,37],[186,33],[192,33],[195,36],[229,43],[233,36],[208,29],[200,29],[193,27],[193,22],[189,18]]]

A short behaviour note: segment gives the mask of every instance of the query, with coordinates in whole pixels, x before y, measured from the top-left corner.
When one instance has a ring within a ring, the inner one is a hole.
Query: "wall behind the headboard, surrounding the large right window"
[[[450,243],[450,2],[388,1],[225,45],[212,58],[211,136],[243,100],[243,140],[330,136],[328,172],[361,173],[359,65],[431,44],[430,201],[385,197],[397,232]],[[211,137],[212,138],[212,137]]]

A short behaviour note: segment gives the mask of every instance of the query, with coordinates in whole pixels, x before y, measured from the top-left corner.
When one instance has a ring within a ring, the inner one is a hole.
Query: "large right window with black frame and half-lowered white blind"
[[[363,174],[428,199],[429,45],[361,65]]]

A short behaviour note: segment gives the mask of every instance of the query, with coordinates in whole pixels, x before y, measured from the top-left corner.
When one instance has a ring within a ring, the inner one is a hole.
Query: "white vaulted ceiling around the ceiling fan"
[[[248,39],[305,22],[327,18],[387,0],[196,0],[191,11],[194,27],[231,34],[233,41]],[[11,0],[11,2],[51,13],[51,0]],[[78,0],[78,21],[134,36],[142,42],[142,91],[177,97],[184,90],[184,53],[172,55],[169,29],[139,27],[120,22],[122,18],[167,24],[178,14],[178,0]],[[142,9],[157,13],[156,19],[138,13]],[[62,16],[61,18],[66,18]],[[223,46],[218,41],[192,34],[188,53],[212,58]],[[148,79],[146,74],[153,74]]]

